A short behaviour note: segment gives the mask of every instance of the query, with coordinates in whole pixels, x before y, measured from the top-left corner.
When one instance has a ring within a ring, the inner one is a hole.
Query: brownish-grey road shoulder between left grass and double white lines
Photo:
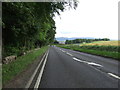
[[[6,85],[3,85],[3,88],[25,88],[43,55],[39,56],[32,64],[28,65],[24,71],[9,81]]]

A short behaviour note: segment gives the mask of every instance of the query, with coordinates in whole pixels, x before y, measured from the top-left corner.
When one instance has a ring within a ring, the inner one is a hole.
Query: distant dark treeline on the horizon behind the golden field
[[[66,40],[65,44],[76,44],[76,43],[90,43],[94,41],[109,41],[110,39],[108,38],[102,38],[102,39],[74,39],[74,40]]]

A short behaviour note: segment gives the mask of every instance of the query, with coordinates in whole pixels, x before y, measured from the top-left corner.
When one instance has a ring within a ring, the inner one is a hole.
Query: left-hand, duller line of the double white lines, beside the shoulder
[[[39,67],[40,67],[40,65],[41,65],[41,63],[42,63],[42,61],[43,61],[43,59],[44,59],[44,57],[45,57],[46,54],[47,54],[47,52],[46,52],[46,53],[44,54],[44,56],[42,57],[42,60],[41,60],[40,63],[38,64],[37,68],[35,69],[33,75],[31,76],[31,78],[30,78],[30,80],[28,81],[28,83],[27,83],[27,85],[25,86],[25,88],[29,88],[29,87],[30,87],[30,84],[32,83],[32,81],[33,81],[33,79],[34,79],[34,77],[35,77],[35,75],[36,75],[36,73],[37,73],[37,71],[38,71],[38,69],[39,69]]]

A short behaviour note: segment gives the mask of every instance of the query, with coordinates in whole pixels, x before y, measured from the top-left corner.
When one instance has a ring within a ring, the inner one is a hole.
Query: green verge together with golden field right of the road
[[[83,43],[79,45],[75,44],[66,44],[58,45],[58,47],[72,49],[80,52],[100,55],[104,57],[110,57],[119,60],[119,44],[118,41],[96,41],[92,43]]]

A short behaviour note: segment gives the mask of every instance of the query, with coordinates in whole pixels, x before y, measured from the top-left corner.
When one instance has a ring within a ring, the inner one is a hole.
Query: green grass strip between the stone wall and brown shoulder
[[[4,64],[2,66],[2,83],[6,84],[9,80],[21,73],[24,69],[27,68],[28,65],[36,60],[38,56],[45,53],[47,49],[48,46],[42,47],[39,50],[34,50],[24,56],[18,57],[15,61],[9,64]]]

